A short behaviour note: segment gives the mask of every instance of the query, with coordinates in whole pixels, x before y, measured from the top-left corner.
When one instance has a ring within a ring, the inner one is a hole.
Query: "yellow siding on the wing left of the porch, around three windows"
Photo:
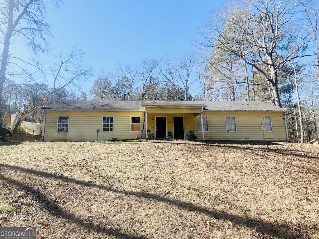
[[[69,132],[57,132],[58,116],[69,116]],[[103,116],[113,116],[113,132],[102,132]],[[144,112],[46,112],[44,141],[106,141],[112,138],[135,139],[141,132],[130,132],[130,117],[141,116],[143,129]],[[143,132],[145,138],[146,129]]]

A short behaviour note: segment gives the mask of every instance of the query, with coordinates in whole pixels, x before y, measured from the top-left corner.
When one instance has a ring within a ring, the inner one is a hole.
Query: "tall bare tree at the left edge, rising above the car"
[[[56,3],[59,4],[60,0],[56,0]],[[49,25],[45,22],[45,9],[44,0],[4,0],[0,2],[0,43],[2,48],[0,50],[0,105],[3,98],[4,82],[11,73],[8,70],[10,63],[19,68],[20,66],[17,62],[20,61],[20,63],[39,69],[39,62],[26,62],[10,50],[11,43],[16,38],[22,38],[25,40],[26,45],[32,48],[33,52],[46,51],[46,36],[51,33]],[[20,69],[25,71],[22,67]],[[32,76],[30,75],[30,77]]]

